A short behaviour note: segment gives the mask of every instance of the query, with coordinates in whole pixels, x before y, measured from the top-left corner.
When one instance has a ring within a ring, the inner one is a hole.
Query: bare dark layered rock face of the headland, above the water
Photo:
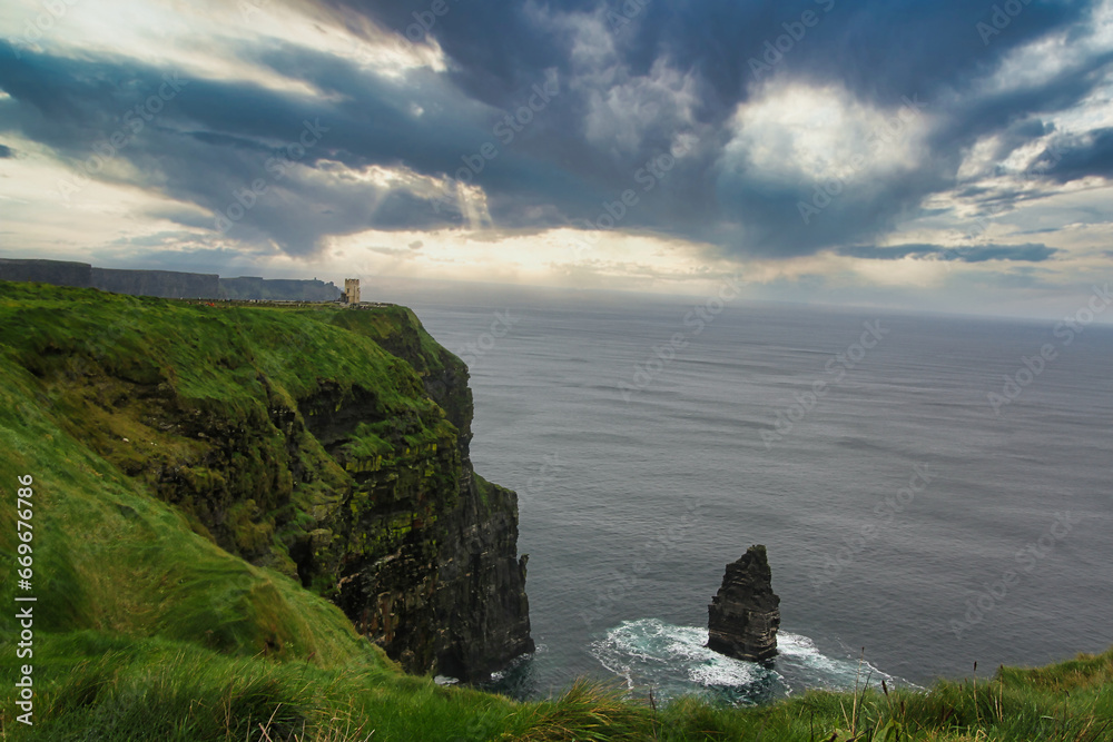
[[[533,651],[518,495],[472,469],[471,390],[461,369],[442,370],[427,388],[453,410],[454,431],[412,439],[385,458],[363,445],[361,426],[373,422],[406,438],[420,415],[378,418],[372,396],[346,399],[334,387],[301,400],[309,433],[354,486],[309,534],[308,548],[292,553],[304,582],[338,577],[337,604],[404,667],[479,680]]]

